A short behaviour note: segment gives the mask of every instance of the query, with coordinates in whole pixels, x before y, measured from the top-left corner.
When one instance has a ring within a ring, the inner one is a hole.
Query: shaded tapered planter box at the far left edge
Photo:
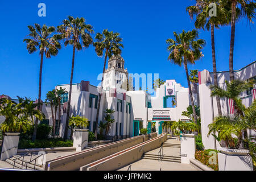
[[[1,158],[6,160],[17,154],[20,133],[5,133],[3,137]]]

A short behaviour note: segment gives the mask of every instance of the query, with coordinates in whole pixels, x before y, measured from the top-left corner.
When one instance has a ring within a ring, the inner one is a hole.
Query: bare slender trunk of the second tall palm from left
[[[75,63],[75,51],[76,46],[73,46],[73,57],[72,57],[72,68],[71,68],[71,77],[69,83],[69,93],[68,93],[68,109],[67,109],[67,118],[66,118],[66,125],[65,125],[65,132],[64,132],[64,139],[68,139],[68,121],[69,121],[69,111],[70,111],[70,103],[71,103],[71,93],[72,93],[72,81],[73,81],[73,71],[74,71],[74,63]]]

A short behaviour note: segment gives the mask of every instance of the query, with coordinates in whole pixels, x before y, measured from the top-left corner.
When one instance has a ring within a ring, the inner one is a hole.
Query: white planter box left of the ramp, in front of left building
[[[73,147],[77,152],[81,152],[84,147],[88,146],[88,129],[75,129],[73,133]]]

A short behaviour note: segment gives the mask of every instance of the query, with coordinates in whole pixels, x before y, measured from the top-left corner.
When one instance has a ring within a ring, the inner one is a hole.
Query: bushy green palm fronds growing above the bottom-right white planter
[[[209,133],[218,132],[218,138],[225,140],[227,147],[238,148],[241,142],[248,148],[248,135],[247,129],[255,131],[256,121],[256,102],[254,100],[250,107],[245,107],[242,104],[240,94],[247,89],[253,87],[254,80],[233,80],[225,81],[226,89],[222,89],[219,86],[211,85],[211,96],[219,96],[222,98],[232,99],[234,106],[234,116],[224,115],[214,118],[214,122],[209,125]],[[232,134],[236,135],[237,139],[232,137]],[[243,134],[243,135],[242,135]],[[243,140],[243,137],[245,138]],[[237,141],[237,142],[236,142]],[[235,143],[236,142],[236,143]]]

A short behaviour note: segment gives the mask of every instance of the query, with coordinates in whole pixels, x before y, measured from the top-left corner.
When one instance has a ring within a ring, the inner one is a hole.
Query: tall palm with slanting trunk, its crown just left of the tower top
[[[102,84],[104,80],[104,73],[105,73],[105,67],[106,67],[106,60],[111,58],[113,55],[118,56],[121,54],[121,47],[123,48],[122,44],[122,38],[119,37],[118,32],[108,31],[108,29],[103,30],[102,34],[97,33],[96,34],[96,42],[93,43],[93,46],[95,47],[95,51],[98,56],[103,56],[105,51],[105,58],[104,58],[104,67],[102,71],[102,79],[101,79],[101,88],[100,88],[100,98],[98,99],[98,107],[97,107],[97,115],[96,115],[96,123],[98,123],[98,114],[100,111],[100,104],[101,104],[101,94],[102,94]],[[98,124],[96,124],[97,126]],[[97,140],[97,133],[98,129],[96,127],[95,129],[95,137]]]

